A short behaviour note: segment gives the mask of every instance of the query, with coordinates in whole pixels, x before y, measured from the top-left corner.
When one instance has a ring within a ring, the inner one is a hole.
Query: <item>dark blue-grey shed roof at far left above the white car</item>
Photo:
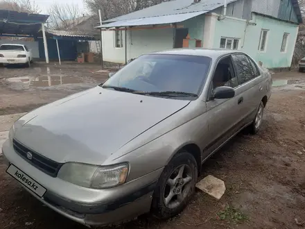
[[[0,10],[0,34],[35,35],[49,15]]]

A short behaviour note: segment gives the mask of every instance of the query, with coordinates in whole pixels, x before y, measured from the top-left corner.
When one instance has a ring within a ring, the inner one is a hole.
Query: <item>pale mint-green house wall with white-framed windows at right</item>
[[[298,25],[259,15],[256,15],[255,22],[256,26],[248,25],[245,31],[246,23],[243,21],[234,19],[217,21],[213,47],[216,49],[220,48],[221,37],[238,38],[240,39],[239,49],[252,56],[256,62],[263,62],[263,66],[267,68],[290,67],[295,49]],[[259,51],[261,29],[269,30],[265,52]],[[288,37],[287,51],[281,53],[284,33],[289,33],[290,35]]]

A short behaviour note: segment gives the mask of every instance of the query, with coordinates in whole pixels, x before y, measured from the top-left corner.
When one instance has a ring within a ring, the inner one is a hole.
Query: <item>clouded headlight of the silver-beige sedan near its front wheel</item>
[[[68,162],[60,168],[58,178],[82,187],[107,189],[125,183],[128,170],[127,163],[102,167]]]

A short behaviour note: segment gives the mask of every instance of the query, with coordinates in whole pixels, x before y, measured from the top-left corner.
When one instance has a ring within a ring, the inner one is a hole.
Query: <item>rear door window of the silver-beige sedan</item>
[[[247,56],[236,54],[233,56],[233,60],[241,85],[255,78],[254,69]]]

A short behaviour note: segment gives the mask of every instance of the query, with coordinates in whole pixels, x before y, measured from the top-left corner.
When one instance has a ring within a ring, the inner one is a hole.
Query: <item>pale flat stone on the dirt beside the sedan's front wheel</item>
[[[196,184],[196,187],[218,200],[225,194],[225,183],[223,180],[211,175],[200,180],[200,182]]]

